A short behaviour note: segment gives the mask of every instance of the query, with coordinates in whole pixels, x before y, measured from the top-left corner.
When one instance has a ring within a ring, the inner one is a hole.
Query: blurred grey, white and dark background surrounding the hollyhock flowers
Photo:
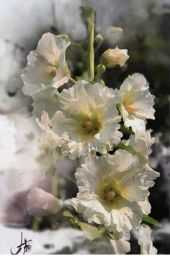
[[[102,78],[107,86],[119,88],[129,74],[140,72],[156,96],[156,120],[148,121],[156,137],[150,162],[161,177],[150,189],[149,199],[151,217],[161,222],[162,227],[152,227],[152,237],[158,254],[170,254],[170,0],[0,0],[0,253],[9,254],[10,247],[18,245],[21,231],[32,239],[32,251],[27,253],[110,253],[99,242],[88,242],[82,231],[73,229],[60,215],[54,223],[44,218],[38,231],[33,232],[34,219],[27,213],[26,205],[29,181],[40,173],[35,160],[40,131],[31,118],[32,99],[22,94],[21,70],[27,63],[27,54],[36,48],[45,32],[68,34],[77,42],[86,39],[79,9],[82,4],[97,11],[96,33],[104,36],[99,54],[119,46],[128,49],[130,55],[124,67],[107,69],[104,73]],[[110,26],[122,27],[123,35],[108,35]],[[71,72],[79,76],[79,53],[75,52],[73,58],[75,65],[71,66]],[[76,163],[66,159],[56,165],[60,189],[66,197],[72,197],[76,188],[65,181],[62,173],[64,170],[73,176]],[[23,183],[21,176],[24,176]],[[39,185],[50,192],[49,174]],[[135,232],[132,232],[131,248],[130,254],[140,253]]]

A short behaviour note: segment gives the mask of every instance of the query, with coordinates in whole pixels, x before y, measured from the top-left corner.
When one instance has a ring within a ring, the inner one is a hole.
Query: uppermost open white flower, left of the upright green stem
[[[66,64],[68,40],[51,33],[45,33],[39,40],[37,49],[27,56],[27,67],[23,69],[22,80],[25,95],[35,95],[49,86],[59,88],[70,78]]]

